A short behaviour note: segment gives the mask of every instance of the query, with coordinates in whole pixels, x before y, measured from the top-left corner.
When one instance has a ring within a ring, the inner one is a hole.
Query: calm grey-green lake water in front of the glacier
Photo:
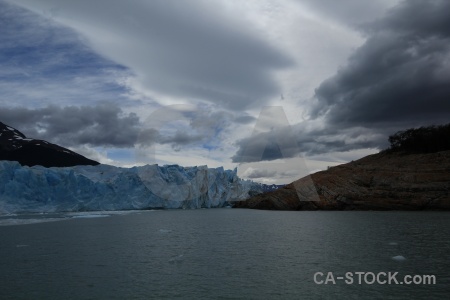
[[[450,293],[446,212],[159,210],[3,216],[0,225],[0,299],[448,299]],[[323,282],[328,272],[353,272],[354,282],[316,284],[317,272]],[[436,284],[358,284],[355,272],[398,272],[398,281],[435,275]]]

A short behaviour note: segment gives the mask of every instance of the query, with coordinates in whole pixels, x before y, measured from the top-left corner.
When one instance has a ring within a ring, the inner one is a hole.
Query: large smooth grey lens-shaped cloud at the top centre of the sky
[[[272,72],[294,64],[220,3],[19,3],[38,12],[56,11],[56,20],[70,24],[97,51],[132,69],[141,86],[182,99],[203,99],[233,110],[260,105],[280,94]]]

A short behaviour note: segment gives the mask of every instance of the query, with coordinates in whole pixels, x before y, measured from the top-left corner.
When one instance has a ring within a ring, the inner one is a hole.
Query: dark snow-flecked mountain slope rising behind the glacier
[[[67,148],[44,140],[27,138],[19,130],[2,122],[0,122],[0,160],[47,168],[99,164]]]

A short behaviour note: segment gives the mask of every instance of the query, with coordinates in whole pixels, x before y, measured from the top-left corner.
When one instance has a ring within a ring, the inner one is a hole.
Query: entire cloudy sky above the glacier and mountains
[[[450,1],[0,0],[0,121],[288,183],[448,123]]]

